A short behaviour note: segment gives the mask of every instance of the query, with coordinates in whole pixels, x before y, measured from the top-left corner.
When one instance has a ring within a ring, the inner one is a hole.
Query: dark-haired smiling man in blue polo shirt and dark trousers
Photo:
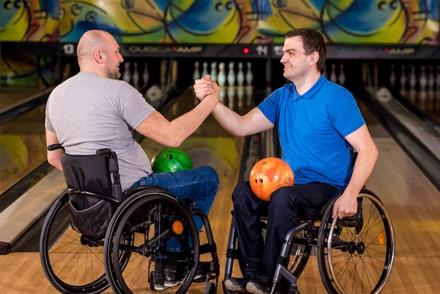
[[[271,277],[287,231],[304,207],[322,207],[342,188],[333,217],[356,214],[357,196],[370,177],[378,151],[354,96],[321,75],[325,41],[316,30],[287,32],[283,46],[283,76],[292,84],[273,91],[256,108],[238,115],[217,104],[212,114],[234,136],[248,136],[276,127],[282,158],[295,174],[295,186],[278,189],[265,203],[252,193],[249,182],[233,191],[235,229],[247,266],[244,278],[224,281],[235,292],[268,293],[261,283]],[[200,100],[219,95],[210,77],[195,81]],[[354,162],[354,149],[358,153]],[[266,243],[260,243],[259,215],[267,213]],[[261,253],[263,258],[261,259]]]

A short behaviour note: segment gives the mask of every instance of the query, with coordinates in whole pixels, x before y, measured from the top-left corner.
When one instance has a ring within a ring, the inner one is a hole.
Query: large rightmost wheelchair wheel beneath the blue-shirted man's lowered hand
[[[318,269],[329,293],[380,293],[394,260],[394,231],[384,205],[363,188],[354,217],[332,219],[328,205],[318,233]]]

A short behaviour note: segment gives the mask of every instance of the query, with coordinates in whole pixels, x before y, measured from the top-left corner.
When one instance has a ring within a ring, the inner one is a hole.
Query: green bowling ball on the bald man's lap
[[[165,148],[153,156],[151,167],[153,172],[176,172],[191,170],[193,162],[188,154],[180,148]]]

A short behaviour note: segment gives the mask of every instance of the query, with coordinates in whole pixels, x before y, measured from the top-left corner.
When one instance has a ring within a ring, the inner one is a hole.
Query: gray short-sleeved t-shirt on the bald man
[[[151,174],[151,163],[132,129],[153,113],[127,82],[79,72],[53,89],[45,126],[71,155],[93,155],[101,148],[117,154],[122,189]]]

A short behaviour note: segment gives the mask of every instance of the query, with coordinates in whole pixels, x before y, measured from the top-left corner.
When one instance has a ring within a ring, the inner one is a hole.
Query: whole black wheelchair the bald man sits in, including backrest
[[[56,148],[63,147],[48,146]],[[123,193],[117,155],[110,149],[87,156],[64,153],[62,163],[67,193],[48,210],[39,242],[44,274],[54,288],[61,293],[101,293],[109,287],[115,293],[186,293],[198,282],[205,283],[206,294],[216,293],[216,244],[207,215],[194,209],[195,203],[155,186]],[[86,208],[78,210],[78,203]],[[90,219],[78,216],[88,210]],[[100,222],[101,214],[106,217]],[[193,217],[202,219],[205,244]],[[186,244],[183,274],[176,285],[155,290],[156,263],[172,254],[166,249],[172,238]],[[209,269],[198,277],[203,254]]]

